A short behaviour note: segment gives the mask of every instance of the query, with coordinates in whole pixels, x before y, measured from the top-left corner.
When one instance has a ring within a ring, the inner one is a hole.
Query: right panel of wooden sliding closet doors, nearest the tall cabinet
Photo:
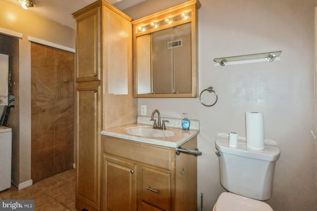
[[[74,53],[55,49],[54,174],[74,163]]]

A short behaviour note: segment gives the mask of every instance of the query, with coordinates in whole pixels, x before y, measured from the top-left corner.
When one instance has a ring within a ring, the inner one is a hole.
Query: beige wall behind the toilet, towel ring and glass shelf
[[[183,0],[182,2],[184,2]],[[317,210],[315,124],[315,31],[317,0],[200,0],[199,92],[212,86],[215,106],[199,99],[139,99],[147,114],[200,120],[198,206],[211,210],[224,189],[214,141],[221,132],[245,136],[245,111],[264,112],[264,136],[277,142],[273,195],[276,211]],[[181,3],[147,0],[125,12],[137,19]],[[282,51],[281,60],[214,66],[213,58]],[[207,96],[211,94],[206,94]],[[212,96],[211,96],[212,97]],[[210,97],[210,98],[211,98]]]

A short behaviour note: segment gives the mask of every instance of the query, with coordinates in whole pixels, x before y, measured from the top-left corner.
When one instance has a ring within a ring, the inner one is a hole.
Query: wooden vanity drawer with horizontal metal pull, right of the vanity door
[[[141,205],[169,211],[171,207],[171,175],[142,166]]]

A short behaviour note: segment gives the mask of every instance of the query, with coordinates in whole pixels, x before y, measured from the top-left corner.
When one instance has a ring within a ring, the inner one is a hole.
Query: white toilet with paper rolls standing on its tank
[[[220,194],[212,211],[272,211],[262,202],[272,195],[276,160],[280,150],[265,146],[263,151],[247,149],[246,143],[229,147],[229,141],[216,140],[220,184],[228,192]]]

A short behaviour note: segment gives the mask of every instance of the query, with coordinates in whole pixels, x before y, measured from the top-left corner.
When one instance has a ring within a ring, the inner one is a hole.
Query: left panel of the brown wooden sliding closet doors
[[[31,179],[54,174],[54,49],[31,43]]]

